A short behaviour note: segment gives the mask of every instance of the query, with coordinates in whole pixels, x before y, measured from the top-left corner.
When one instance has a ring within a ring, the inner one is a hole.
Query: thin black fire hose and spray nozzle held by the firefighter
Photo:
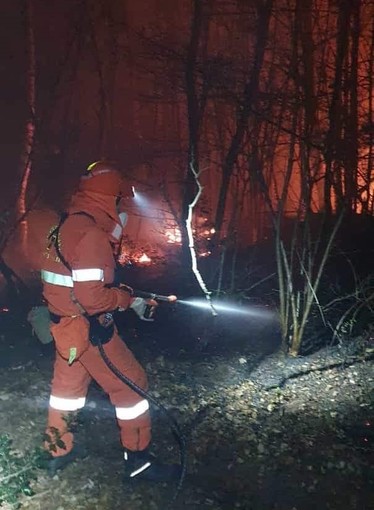
[[[140,298],[146,299],[146,300],[152,299],[154,301],[159,301],[159,302],[173,303],[173,302],[177,301],[177,297],[174,295],[163,296],[160,294],[155,294],[153,292],[144,292],[144,291],[139,291],[139,290],[132,290],[131,294],[133,297],[140,297]],[[144,316],[146,318],[151,318],[153,316],[153,313],[154,313],[154,306],[148,305],[144,312]],[[169,422],[171,431],[173,432],[174,437],[178,443],[179,458],[180,458],[180,474],[179,474],[178,484],[174,491],[173,497],[168,505],[169,508],[171,508],[171,505],[175,502],[175,500],[177,499],[177,497],[181,491],[181,488],[182,488],[182,485],[183,485],[183,482],[184,482],[184,479],[186,476],[186,471],[187,471],[186,440],[185,440],[184,434],[183,434],[177,420],[170,413],[170,411],[168,409],[166,409],[166,407],[163,404],[161,404],[157,399],[155,399],[147,391],[140,388],[140,386],[138,386],[136,383],[134,383],[134,381],[132,381],[131,379],[126,377],[120,370],[118,370],[118,368],[112,363],[112,361],[107,356],[107,354],[104,350],[104,347],[103,347],[103,343],[100,340],[97,342],[97,347],[99,349],[101,357],[103,358],[103,361],[105,362],[105,364],[107,365],[109,370],[116,377],[118,377],[118,379],[120,381],[122,381],[124,384],[127,384],[127,386],[129,386],[133,391],[135,391],[135,393],[140,395],[142,398],[147,399],[151,404],[156,406],[161,411],[161,413],[166,417],[167,421]]]

